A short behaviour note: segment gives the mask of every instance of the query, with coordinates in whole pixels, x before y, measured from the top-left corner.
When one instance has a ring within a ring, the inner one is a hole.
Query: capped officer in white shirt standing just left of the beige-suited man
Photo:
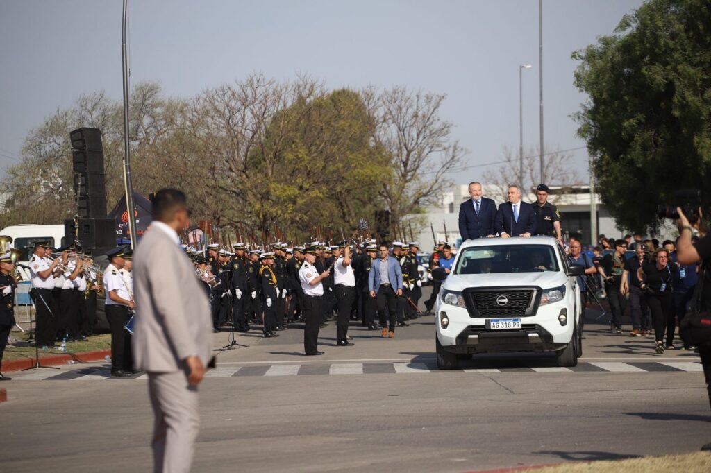
[[[131,338],[125,327],[131,318],[134,301],[119,273],[125,264],[124,249],[114,248],[106,256],[110,261],[104,271],[104,288],[106,318],[111,327],[111,376],[122,378],[131,376],[133,371]]]

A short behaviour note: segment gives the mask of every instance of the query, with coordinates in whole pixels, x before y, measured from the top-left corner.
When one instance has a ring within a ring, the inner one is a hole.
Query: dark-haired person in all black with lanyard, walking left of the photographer
[[[656,339],[655,350],[664,353],[664,330],[672,310],[672,281],[678,271],[674,263],[669,264],[669,253],[663,248],[654,251],[653,261],[643,263],[637,270],[639,287],[644,293],[650,312]],[[674,345],[666,348],[673,349]]]

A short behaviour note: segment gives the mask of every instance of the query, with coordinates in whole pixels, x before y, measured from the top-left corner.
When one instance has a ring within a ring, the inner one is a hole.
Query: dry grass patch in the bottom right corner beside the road
[[[702,440],[700,440],[701,442]],[[707,473],[711,472],[711,452],[630,458],[628,460],[602,460],[590,463],[564,463],[555,467],[525,471],[532,473]]]

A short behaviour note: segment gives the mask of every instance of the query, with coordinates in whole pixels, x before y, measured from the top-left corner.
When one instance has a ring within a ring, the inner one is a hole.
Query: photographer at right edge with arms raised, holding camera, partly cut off
[[[691,301],[692,307],[690,312],[685,315],[679,330],[683,333],[684,343],[693,342],[699,347],[709,403],[711,404],[711,274],[708,270],[711,264],[711,236],[707,234],[705,224],[702,224],[700,192],[698,194],[699,198],[693,207],[684,210],[681,207],[676,207],[675,212],[665,212],[663,216],[676,219],[676,224],[679,227],[679,238],[676,244],[677,262],[680,265],[701,262],[699,282]],[[692,237],[695,233],[698,233],[700,239],[693,243]],[[711,443],[701,447],[701,450],[711,450]]]

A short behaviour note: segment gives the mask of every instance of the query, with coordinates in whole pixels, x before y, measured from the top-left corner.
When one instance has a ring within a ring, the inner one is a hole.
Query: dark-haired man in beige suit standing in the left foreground
[[[198,384],[212,351],[210,305],[178,232],[187,227],[183,192],[159,190],[153,223],[134,254],[134,362],[148,373],[155,415],[155,472],[187,472],[198,436]]]

